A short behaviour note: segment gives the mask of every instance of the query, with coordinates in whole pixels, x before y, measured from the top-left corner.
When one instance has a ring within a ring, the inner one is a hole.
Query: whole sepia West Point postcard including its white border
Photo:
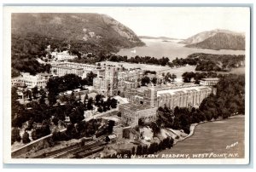
[[[3,7],[4,163],[249,163],[250,14]]]

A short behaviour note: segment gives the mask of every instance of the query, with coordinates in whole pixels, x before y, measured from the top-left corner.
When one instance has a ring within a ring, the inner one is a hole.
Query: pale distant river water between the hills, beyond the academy
[[[184,47],[183,43],[176,43],[172,41],[164,42],[161,39],[142,39],[146,46],[135,47],[136,53],[131,53],[133,49],[121,49],[119,55],[130,56],[152,56],[155,58],[169,57],[170,60],[178,58],[186,58],[189,54],[193,53],[207,53],[207,54],[245,54],[243,50],[213,50],[213,49],[195,49]]]

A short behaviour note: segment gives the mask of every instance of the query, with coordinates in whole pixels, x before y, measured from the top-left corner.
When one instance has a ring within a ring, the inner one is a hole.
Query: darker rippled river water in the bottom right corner
[[[244,158],[245,119],[230,118],[223,121],[202,123],[195,128],[195,134],[177,142],[172,149],[159,152],[159,158],[169,155],[188,154],[189,158]],[[208,154],[207,154],[208,153]],[[201,154],[201,155],[200,155]],[[199,157],[201,156],[201,157]],[[231,157],[229,157],[231,156]],[[172,156],[173,158],[173,156]],[[234,158],[234,157],[233,157]]]

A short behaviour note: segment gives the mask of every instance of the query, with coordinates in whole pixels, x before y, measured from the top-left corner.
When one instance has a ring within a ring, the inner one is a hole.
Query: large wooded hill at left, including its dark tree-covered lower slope
[[[12,76],[46,72],[35,57],[53,49],[108,54],[143,46],[128,27],[104,14],[12,14]]]

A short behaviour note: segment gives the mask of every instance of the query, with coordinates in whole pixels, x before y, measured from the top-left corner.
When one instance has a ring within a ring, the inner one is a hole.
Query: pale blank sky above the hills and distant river
[[[228,29],[247,32],[248,8],[104,7],[84,12],[108,14],[138,36],[187,38],[198,32]]]

